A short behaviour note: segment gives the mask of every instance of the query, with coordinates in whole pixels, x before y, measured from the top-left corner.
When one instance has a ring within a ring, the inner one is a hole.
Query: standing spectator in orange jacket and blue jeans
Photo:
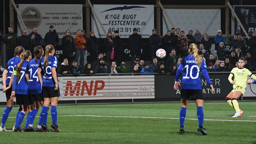
[[[81,30],[77,31],[77,36],[75,37],[75,61],[78,61],[78,57],[80,54],[80,64],[82,67],[84,67],[84,45],[86,41],[85,38],[82,35]]]

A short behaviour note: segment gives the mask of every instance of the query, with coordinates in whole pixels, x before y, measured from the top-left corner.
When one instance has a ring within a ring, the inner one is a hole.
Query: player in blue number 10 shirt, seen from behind
[[[210,81],[209,75],[206,70],[205,59],[198,54],[196,44],[189,45],[189,55],[182,58],[175,77],[174,89],[177,90],[180,85],[179,76],[181,70],[182,75],[182,86],[181,86],[181,109],[180,109],[180,133],[184,133],[184,121],[186,117],[186,111],[188,107],[188,100],[191,99],[196,101],[197,105],[197,118],[199,127],[197,130],[203,135],[207,135],[207,132],[203,128],[204,113],[203,113],[203,93],[201,86],[200,71],[202,71],[207,83],[210,85],[211,91],[214,92],[214,88]]]

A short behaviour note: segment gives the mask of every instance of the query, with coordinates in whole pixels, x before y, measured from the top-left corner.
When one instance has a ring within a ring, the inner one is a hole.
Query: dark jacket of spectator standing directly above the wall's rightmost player
[[[49,32],[45,34],[44,44],[45,45],[51,44],[53,46],[56,46],[59,44],[59,35],[56,33],[56,30],[53,30],[53,32],[49,30]]]

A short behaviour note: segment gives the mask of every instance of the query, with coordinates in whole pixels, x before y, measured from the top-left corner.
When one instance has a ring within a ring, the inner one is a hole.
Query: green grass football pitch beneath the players
[[[256,102],[239,102],[242,117],[232,118],[235,110],[226,102],[204,103],[204,127],[208,135],[197,132],[196,104],[189,103],[184,124],[179,133],[180,103],[136,103],[59,105],[60,133],[0,132],[0,143],[256,143]],[[0,113],[4,111],[0,107]],[[13,107],[5,124],[11,130],[18,107]],[[41,109],[37,116],[39,116]],[[38,124],[36,117],[34,128]],[[1,118],[0,118],[1,119]],[[26,118],[22,123],[25,125]]]

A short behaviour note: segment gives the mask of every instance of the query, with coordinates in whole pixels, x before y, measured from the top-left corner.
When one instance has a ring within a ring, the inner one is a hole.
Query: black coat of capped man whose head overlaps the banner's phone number
[[[130,54],[137,55],[141,54],[141,49],[143,47],[143,41],[140,34],[132,34],[129,36],[128,45],[130,48]]]

